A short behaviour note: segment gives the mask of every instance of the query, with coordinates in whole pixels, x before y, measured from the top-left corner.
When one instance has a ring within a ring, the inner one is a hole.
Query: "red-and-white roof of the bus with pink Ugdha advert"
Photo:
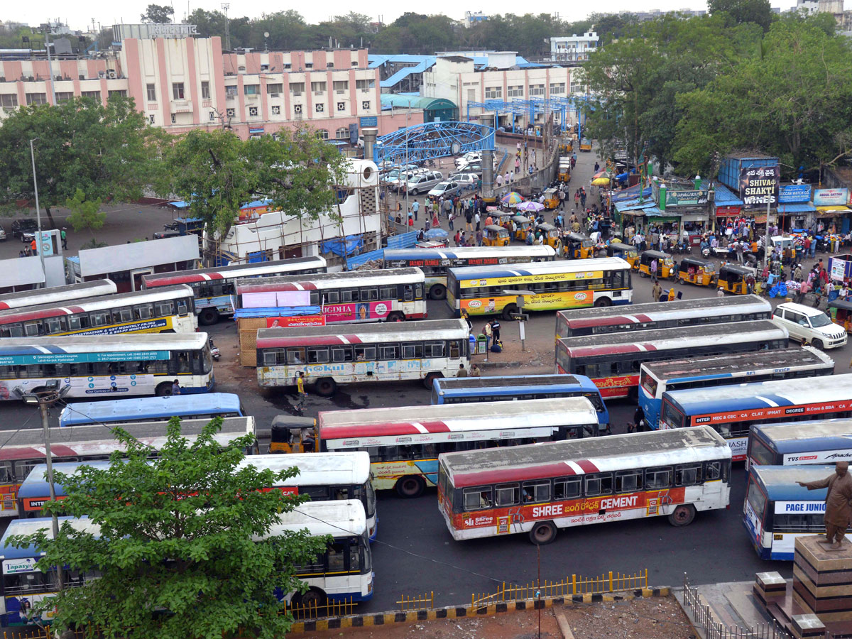
[[[314,275],[279,275],[262,279],[246,278],[236,281],[237,294],[268,291],[317,291],[337,286],[397,285],[422,282],[423,271],[415,267],[383,268],[374,271],[345,271],[315,273]]]

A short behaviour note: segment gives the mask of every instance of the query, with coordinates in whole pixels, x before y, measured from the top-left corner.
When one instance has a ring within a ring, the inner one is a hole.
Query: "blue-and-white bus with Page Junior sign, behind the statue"
[[[743,526],[761,559],[792,561],[796,538],[826,533],[826,488],[809,491],[834,466],[752,466],[743,501]]]

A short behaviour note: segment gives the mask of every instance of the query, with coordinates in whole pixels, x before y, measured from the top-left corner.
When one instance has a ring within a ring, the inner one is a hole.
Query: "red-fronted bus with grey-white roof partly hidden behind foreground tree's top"
[[[209,422],[209,419],[184,420],[181,434],[193,440]],[[121,428],[155,451],[166,440],[165,422],[123,423]],[[222,429],[214,437],[227,446],[245,435],[256,435],[254,417],[225,417]],[[46,454],[42,429],[20,429],[4,439],[0,447],[0,516],[10,517],[16,512],[15,498],[20,484],[34,466],[45,463]],[[124,450],[124,445],[101,424],[50,429],[50,440],[55,463],[109,459],[112,452]],[[245,451],[246,454],[258,452],[256,444]]]

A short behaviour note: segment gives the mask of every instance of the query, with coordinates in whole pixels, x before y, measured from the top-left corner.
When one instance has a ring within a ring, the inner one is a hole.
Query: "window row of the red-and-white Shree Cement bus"
[[[689,463],[673,467],[556,477],[553,481],[545,479],[475,486],[463,489],[463,510],[543,504],[642,490],[665,490],[674,486],[698,486],[704,481],[727,480],[728,465],[726,462]]]

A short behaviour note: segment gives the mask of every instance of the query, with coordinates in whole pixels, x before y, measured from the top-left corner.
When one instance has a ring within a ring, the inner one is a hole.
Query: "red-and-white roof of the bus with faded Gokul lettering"
[[[345,332],[344,332],[345,331]],[[463,335],[460,334],[461,331]],[[414,339],[447,339],[468,336],[464,320],[428,320],[411,322],[376,322],[345,326],[288,326],[262,328],[257,331],[257,348],[323,344],[362,344],[406,342]]]

